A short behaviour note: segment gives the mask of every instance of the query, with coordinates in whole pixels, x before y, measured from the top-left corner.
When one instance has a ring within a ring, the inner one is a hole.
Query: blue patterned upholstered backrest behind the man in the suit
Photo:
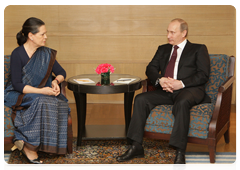
[[[229,77],[229,56],[224,54],[210,54],[210,77],[206,84],[206,93],[215,104],[218,88]]]

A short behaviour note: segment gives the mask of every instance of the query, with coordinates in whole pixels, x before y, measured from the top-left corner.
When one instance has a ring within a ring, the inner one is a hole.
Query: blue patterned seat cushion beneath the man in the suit
[[[172,105],[156,106],[150,113],[145,126],[145,131],[171,134],[174,124]],[[212,103],[199,104],[190,110],[190,137],[206,139],[208,125],[212,117],[214,105]]]

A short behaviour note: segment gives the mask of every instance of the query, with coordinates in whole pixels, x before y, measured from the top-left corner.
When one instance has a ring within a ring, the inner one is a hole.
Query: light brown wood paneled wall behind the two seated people
[[[95,74],[98,64],[106,62],[116,68],[115,73],[145,79],[146,65],[157,47],[167,43],[166,29],[174,18],[188,22],[191,42],[206,44],[210,54],[237,58],[237,15],[237,6],[7,5],[4,54],[11,54],[17,47],[15,37],[24,21],[37,17],[46,23],[46,45],[58,51],[57,60],[66,70],[67,79]],[[74,102],[72,92],[67,90],[67,95],[69,102]],[[237,80],[232,101],[237,103]],[[88,102],[122,103],[123,95],[88,95]]]

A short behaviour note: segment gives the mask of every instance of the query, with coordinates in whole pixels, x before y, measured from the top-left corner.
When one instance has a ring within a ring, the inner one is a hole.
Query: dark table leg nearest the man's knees
[[[133,101],[134,92],[124,93],[124,113],[125,113],[125,131],[128,132],[128,127],[131,121],[132,114],[132,101]]]

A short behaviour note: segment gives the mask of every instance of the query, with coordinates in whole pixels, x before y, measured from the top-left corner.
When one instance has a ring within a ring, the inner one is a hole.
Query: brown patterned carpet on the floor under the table
[[[128,162],[117,162],[116,157],[123,154],[128,145],[126,140],[87,140],[76,148],[73,140],[73,153],[67,155],[50,155],[39,152],[42,165],[36,166],[104,166],[104,165],[172,165],[175,151],[169,147],[168,141],[144,139],[144,158],[136,158]],[[18,150],[11,153],[8,166],[33,166],[20,155]]]

